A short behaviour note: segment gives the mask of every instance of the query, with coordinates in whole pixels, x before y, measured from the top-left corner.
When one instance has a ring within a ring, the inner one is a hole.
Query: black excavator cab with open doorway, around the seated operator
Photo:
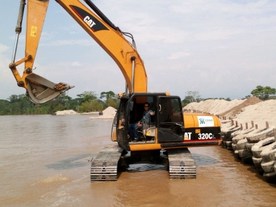
[[[139,141],[131,142],[128,127],[141,120],[144,103],[148,102],[155,115],[150,123],[139,130]],[[179,97],[165,93],[133,93],[121,97],[117,111],[117,142],[125,150],[145,150],[160,144],[184,141],[184,124]],[[143,146],[147,144],[148,147]],[[135,146],[135,147],[134,147]]]

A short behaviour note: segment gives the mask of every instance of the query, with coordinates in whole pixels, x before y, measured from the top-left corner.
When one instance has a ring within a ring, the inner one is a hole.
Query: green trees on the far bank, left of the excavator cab
[[[104,99],[104,101],[102,100]],[[50,115],[58,110],[75,110],[76,112],[101,111],[108,106],[118,108],[119,100],[112,91],[101,92],[97,97],[94,91],[85,91],[76,99],[64,93],[43,103],[32,103],[26,95],[11,95],[7,100],[0,99],[0,115]]]

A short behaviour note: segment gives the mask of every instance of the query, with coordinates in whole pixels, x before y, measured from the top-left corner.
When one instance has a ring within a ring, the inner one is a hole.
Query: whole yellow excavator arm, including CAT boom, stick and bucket
[[[45,103],[74,87],[63,82],[52,83],[32,72],[49,1],[27,0],[25,57],[17,62],[15,62],[15,56],[26,0],[20,2],[19,17],[15,29],[17,35],[10,69],[17,80],[17,85],[26,88],[26,95],[34,103]],[[130,43],[124,37],[124,34],[128,37],[132,37],[132,35],[121,32],[90,0],[84,1],[92,10],[84,6],[79,0],[56,1],[117,63],[126,79],[129,92],[147,92],[148,81],[144,62],[136,50],[134,40]],[[22,76],[17,70],[17,66],[21,63],[25,63]]]

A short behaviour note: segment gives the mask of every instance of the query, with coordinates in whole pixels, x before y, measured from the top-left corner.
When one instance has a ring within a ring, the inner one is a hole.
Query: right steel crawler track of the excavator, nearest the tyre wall
[[[188,148],[167,150],[170,179],[196,178],[195,160]]]

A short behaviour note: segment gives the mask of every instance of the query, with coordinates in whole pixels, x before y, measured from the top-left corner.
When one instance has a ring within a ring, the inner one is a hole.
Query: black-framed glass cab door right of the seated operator
[[[158,143],[184,141],[184,118],[179,97],[159,96],[157,99]]]

